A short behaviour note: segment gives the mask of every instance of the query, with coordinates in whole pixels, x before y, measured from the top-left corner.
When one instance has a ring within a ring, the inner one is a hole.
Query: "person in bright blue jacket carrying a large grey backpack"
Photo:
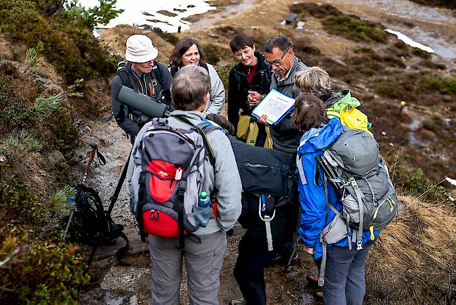
[[[299,234],[304,243],[304,252],[312,254],[317,265],[320,265],[323,256],[321,232],[335,219],[335,213],[326,205],[323,171],[316,167],[315,157],[323,154],[323,149],[340,136],[342,124],[337,118],[328,119],[323,101],[307,94],[296,98],[292,118],[295,126],[304,131],[297,149],[298,188],[302,210]],[[342,211],[342,202],[330,183],[327,183],[327,190],[328,202],[338,211]],[[349,234],[351,233],[350,230]],[[380,231],[374,232],[375,239],[379,233]],[[363,303],[366,294],[365,261],[374,241],[370,240],[370,233],[364,231],[363,249],[357,250],[355,242],[352,242],[353,247],[349,249],[347,237],[328,243],[326,270],[323,271],[325,304]]]

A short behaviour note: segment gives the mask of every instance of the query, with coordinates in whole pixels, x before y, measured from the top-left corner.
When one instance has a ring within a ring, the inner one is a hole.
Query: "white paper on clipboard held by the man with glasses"
[[[293,98],[272,89],[253,110],[252,115],[257,118],[267,115],[266,121],[270,124],[276,124],[290,112],[294,105],[295,100]]]

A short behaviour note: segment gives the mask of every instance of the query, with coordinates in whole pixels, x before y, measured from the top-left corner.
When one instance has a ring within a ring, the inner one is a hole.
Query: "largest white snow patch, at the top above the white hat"
[[[100,5],[98,0],[79,0],[78,3],[85,8]],[[190,29],[190,22],[182,18],[215,10],[215,6],[210,6],[208,0],[117,0],[115,8],[123,9],[123,13],[117,15],[107,25],[99,25],[99,27],[149,25],[165,32],[177,32],[177,27],[182,25],[181,30],[185,31]],[[158,11],[168,11],[175,15],[163,15],[157,13]]]

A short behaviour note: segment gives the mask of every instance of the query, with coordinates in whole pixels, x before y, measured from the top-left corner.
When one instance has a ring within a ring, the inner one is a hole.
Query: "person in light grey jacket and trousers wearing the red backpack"
[[[175,74],[171,84],[171,96],[175,111],[171,112],[166,125],[172,129],[190,130],[203,123],[203,112],[210,96],[210,78],[203,67],[189,65]],[[138,134],[133,152],[142,140],[145,128]],[[148,235],[152,259],[152,304],[179,304],[182,281],[182,259],[187,268],[189,304],[219,304],[218,287],[220,270],[227,249],[227,235],[241,214],[241,179],[229,139],[219,129],[208,131],[208,143],[215,158],[214,166],[204,160],[202,190],[208,195],[215,193],[217,216],[209,219],[206,227],[198,228],[185,238],[180,249],[179,238],[163,238]],[[133,157],[130,167],[134,166]],[[130,195],[131,197],[131,195]],[[157,214],[158,219],[158,214]],[[196,235],[196,236],[195,236]]]

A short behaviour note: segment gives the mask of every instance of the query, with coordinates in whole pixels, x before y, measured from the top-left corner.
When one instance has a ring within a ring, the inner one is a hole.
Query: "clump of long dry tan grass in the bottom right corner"
[[[404,209],[384,228],[366,268],[370,304],[456,301],[456,216],[441,204],[400,197]],[[399,288],[400,287],[400,288]]]

